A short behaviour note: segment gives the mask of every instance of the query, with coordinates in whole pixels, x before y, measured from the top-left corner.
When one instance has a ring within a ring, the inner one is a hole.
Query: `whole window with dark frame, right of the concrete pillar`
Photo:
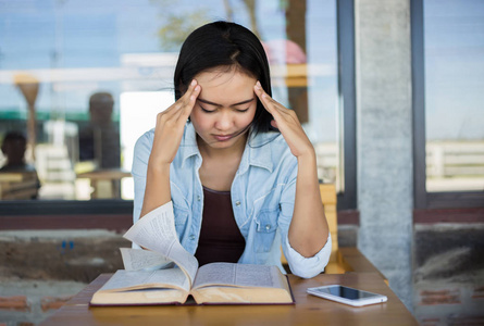
[[[417,208],[484,202],[484,3],[412,1]]]

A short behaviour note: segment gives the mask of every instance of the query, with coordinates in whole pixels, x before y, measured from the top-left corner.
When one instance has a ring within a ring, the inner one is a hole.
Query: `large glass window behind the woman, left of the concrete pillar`
[[[320,178],[343,189],[336,1],[0,7],[2,200],[131,200],[134,143],[173,102],[183,40],[214,20],[237,22],[261,38],[274,98],[297,112],[318,152]]]

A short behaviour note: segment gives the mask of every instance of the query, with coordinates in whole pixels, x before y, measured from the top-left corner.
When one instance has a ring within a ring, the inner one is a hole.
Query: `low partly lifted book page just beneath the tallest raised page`
[[[126,271],[154,271],[173,267],[172,261],[158,252],[142,249],[120,248]]]

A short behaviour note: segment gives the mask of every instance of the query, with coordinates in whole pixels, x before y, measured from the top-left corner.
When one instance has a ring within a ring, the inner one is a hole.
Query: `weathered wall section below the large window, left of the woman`
[[[107,230],[0,231],[0,325],[36,325],[101,273],[122,268]]]

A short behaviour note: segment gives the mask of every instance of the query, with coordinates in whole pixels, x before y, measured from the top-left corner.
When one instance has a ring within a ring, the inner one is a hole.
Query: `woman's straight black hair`
[[[214,67],[238,68],[259,80],[272,96],[269,62],[258,37],[244,26],[221,21],[195,29],[183,43],[174,75],[175,100],[197,74]],[[272,115],[258,99],[252,130],[273,129],[271,121]]]

